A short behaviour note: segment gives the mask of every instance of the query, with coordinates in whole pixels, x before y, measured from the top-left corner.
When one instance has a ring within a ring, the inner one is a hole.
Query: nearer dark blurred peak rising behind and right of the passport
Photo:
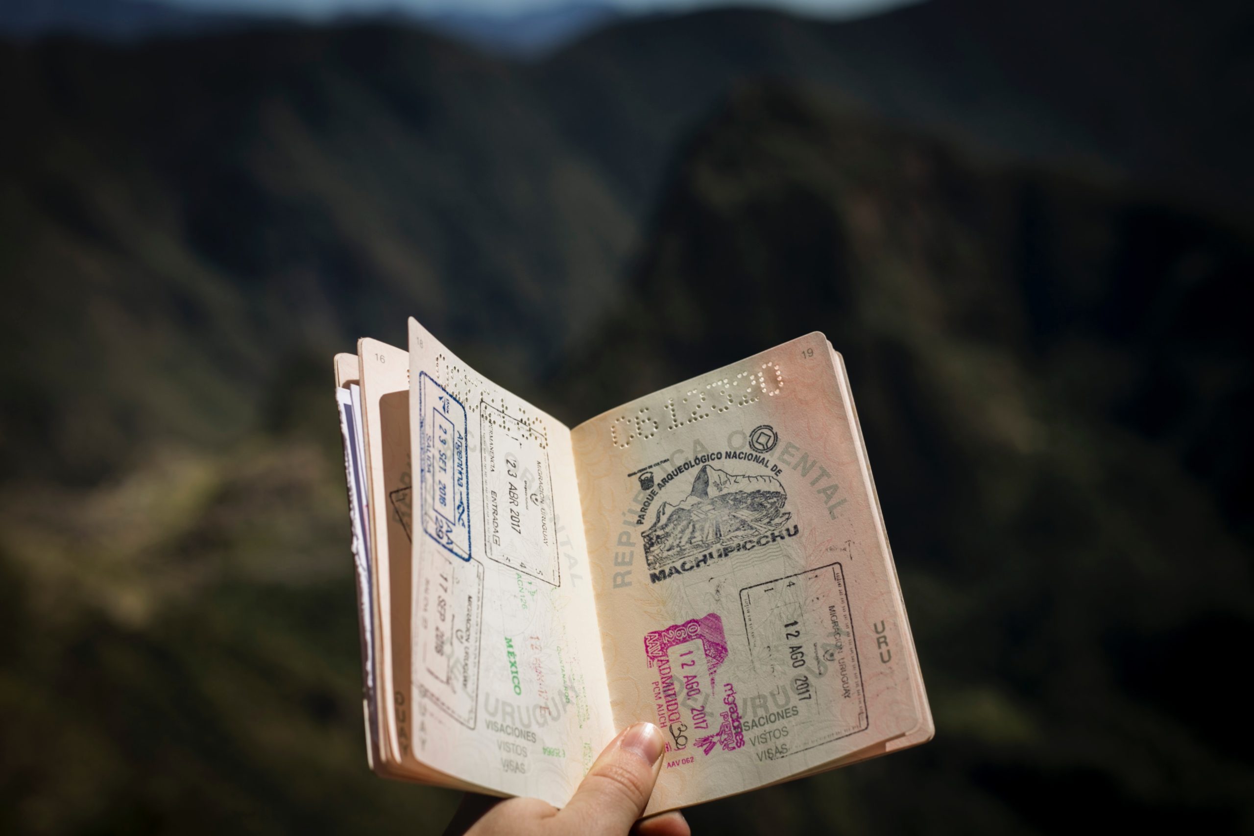
[[[779,85],[739,91],[668,182],[630,302],[556,389],[596,414],[824,331],[938,729],[828,778],[839,812],[780,787],[693,831],[1254,821],[1236,703],[1164,688],[1254,638],[1254,228]]]

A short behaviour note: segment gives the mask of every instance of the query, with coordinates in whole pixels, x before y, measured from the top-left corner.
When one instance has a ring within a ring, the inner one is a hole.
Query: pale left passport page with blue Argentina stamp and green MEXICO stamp
[[[409,321],[411,746],[556,806],[616,729],[571,431]]]

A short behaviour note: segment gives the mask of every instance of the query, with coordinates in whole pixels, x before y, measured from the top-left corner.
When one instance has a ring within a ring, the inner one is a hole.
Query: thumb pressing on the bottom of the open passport
[[[628,727],[601,753],[557,817],[572,832],[626,833],[645,812],[665,748],[653,723]]]

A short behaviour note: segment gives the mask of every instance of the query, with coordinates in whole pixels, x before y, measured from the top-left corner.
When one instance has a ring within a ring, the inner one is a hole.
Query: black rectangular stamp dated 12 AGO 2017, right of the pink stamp
[[[823,584],[831,585],[824,588]],[[756,602],[754,600],[755,594],[759,598]],[[767,595],[770,598],[766,598]],[[858,640],[854,635],[853,610],[849,607],[849,590],[845,587],[844,567],[840,563],[829,563],[825,567],[815,567],[814,569],[806,569],[796,574],[752,584],[740,590],[740,609],[745,618],[745,638],[749,642],[750,652],[755,654],[755,667],[759,663],[760,656],[771,656],[774,652],[774,645],[769,643],[771,640],[770,637],[759,635],[759,629],[765,627],[766,619],[759,617],[757,613],[760,610],[757,608],[764,605],[776,609],[786,608],[788,613],[795,619],[788,622],[788,624],[796,624],[801,619],[810,622],[805,624],[808,629],[799,629],[801,635],[795,639],[785,625],[781,647],[790,647],[786,644],[788,640],[799,640],[803,644],[810,644],[814,649],[813,658],[808,659],[801,671],[793,677],[794,686],[796,686],[796,677],[804,676],[806,678],[806,687],[815,688],[818,693],[820,682],[809,683],[809,676],[814,674],[821,681],[825,691],[839,688],[838,694],[841,698],[844,698],[848,691],[849,697],[855,699],[853,707],[856,709],[856,713],[853,722],[845,722],[828,733],[805,741],[799,748],[790,750],[785,757],[867,731],[870,727],[870,717],[867,711],[867,689],[863,683],[861,662],[858,658]],[[810,610],[823,607],[828,608],[826,612],[823,613],[821,618],[815,618]],[[814,620],[818,620],[818,624],[813,623]],[[826,640],[816,642],[814,640],[815,635],[826,637]],[[793,669],[798,663],[795,659],[790,662],[789,667]],[[849,663],[854,668],[851,674],[846,671]],[[828,674],[835,674],[836,678],[834,681],[825,679]],[[828,686],[828,682],[835,682],[835,686]],[[856,694],[854,693],[855,687]],[[819,713],[809,721],[809,724],[824,723],[824,717],[823,713]],[[839,719],[839,714],[835,713],[826,717],[830,718],[830,722],[825,723],[828,726],[836,724],[835,721]]]

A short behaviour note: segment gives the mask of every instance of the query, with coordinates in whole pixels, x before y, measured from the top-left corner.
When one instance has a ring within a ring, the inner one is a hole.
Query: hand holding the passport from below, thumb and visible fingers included
[[[636,723],[609,742],[566,807],[468,793],[444,836],[691,836],[678,811],[640,818],[665,750],[657,726]]]

